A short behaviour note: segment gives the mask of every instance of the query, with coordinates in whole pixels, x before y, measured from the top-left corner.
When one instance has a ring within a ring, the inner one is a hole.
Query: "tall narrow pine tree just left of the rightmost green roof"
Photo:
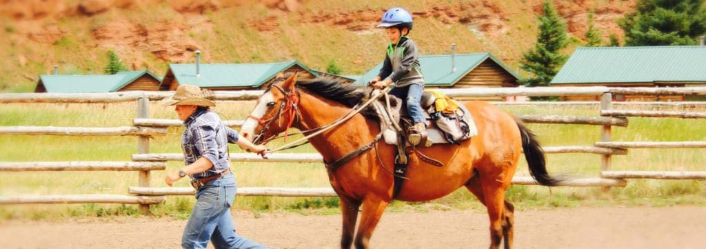
[[[561,54],[566,48],[566,24],[558,16],[550,1],[542,3],[544,14],[539,16],[539,36],[534,48],[522,54],[520,68],[532,73],[532,78],[520,82],[522,85],[535,87],[547,86],[554,78],[558,67],[566,61],[567,56]],[[538,99],[538,98],[533,98]]]

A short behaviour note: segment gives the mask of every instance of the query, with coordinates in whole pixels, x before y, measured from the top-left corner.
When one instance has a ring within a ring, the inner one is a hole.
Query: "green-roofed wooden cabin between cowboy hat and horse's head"
[[[176,90],[181,84],[210,90],[256,90],[275,80],[278,73],[297,72],[298,79],[318,73],[298,61],[277,63],[174,63],[164,75],[160,90]]]

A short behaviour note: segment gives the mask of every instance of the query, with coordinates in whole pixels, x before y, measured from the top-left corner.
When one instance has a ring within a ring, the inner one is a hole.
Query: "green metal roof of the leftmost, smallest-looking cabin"
[[[40,81],[47,92],[85,93],[85,92],[116,92],[142,75],[148,74],[157,81],[161,78],[150,71],[123,71],[112,75],[40,75]]]

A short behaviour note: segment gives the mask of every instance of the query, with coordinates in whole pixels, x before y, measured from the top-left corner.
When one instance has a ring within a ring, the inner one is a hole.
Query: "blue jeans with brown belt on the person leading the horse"
[[[235,234],[230,206],[233,205],[236,188],[235,178],[230,172],[196,191],[196,205],[181,237],[182,248],[206,248],[209,240],[215,248],[266,248]]]

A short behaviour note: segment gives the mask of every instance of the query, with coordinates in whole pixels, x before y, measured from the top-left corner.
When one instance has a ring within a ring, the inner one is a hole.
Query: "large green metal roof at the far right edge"
[[[551,84],[706,82],[706,46],[580,47]]]

